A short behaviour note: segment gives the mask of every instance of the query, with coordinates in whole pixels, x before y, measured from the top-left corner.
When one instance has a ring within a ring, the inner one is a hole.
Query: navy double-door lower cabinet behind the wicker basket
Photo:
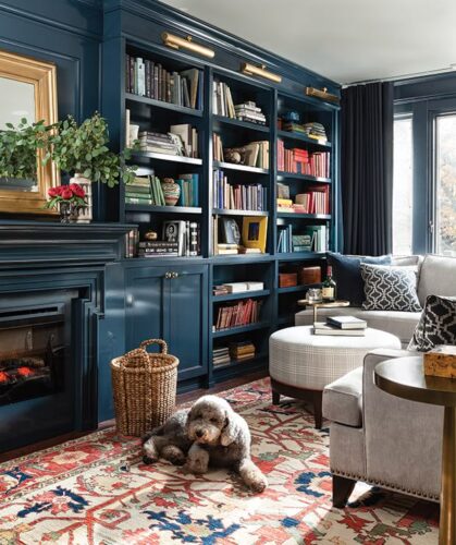
[[[165,339],[180,359],[183,383],[207,374],[208,266],[128,267],[125,271],[126,348]]]

